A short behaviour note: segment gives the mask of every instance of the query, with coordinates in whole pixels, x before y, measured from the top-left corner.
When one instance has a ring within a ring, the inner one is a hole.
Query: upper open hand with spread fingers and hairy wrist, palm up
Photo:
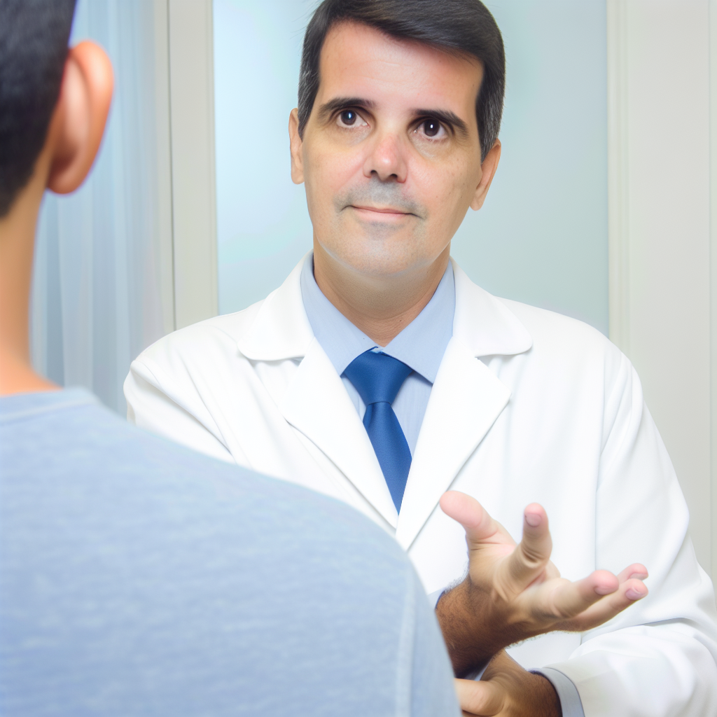
[[[537,503],[523,516],[516,546],[475,498],[451,490],[443,512],[465,528],[468,574],[436,606],[457,677],[477,670],[508,645],[554,630],[584,632],[612,619],[647,595],[640,564],[619,576],[596,570],[571,582],[550,561],[548,516]]]

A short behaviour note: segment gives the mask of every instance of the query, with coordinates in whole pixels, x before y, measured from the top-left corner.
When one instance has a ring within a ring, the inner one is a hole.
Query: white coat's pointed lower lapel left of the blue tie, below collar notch
[[[395,527],[397,511],[369,435],[336,369],[315,338],[279,409]]]

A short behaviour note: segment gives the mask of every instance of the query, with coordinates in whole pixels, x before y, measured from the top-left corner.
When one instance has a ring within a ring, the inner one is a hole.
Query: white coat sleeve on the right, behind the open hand
[[[717,715],[717,627],[668,453],[622,356],[606,376],[595,520],[598,569],[647,566],[650,594],[550,665],[576,686],[585,717]]]

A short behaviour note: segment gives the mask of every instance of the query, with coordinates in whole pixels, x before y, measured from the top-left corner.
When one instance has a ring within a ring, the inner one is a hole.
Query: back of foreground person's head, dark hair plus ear
[[[75,0],[0,0],[0,218],[38,170],[43,191],[77,189],[99,148],[112,70],[95,44],[68,49],[74,11]]]

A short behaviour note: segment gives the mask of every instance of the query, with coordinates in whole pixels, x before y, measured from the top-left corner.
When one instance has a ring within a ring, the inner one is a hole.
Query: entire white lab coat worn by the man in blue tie
[[[642,562],[650,595],[597,630],[539,637],[513,656],[568,675],[586,717],[717,715],[713,589],[625,356],[584,323],[493,297],[454,263],[453,336],[397,516],[313,336],[300,269],[250,308],[144,351],[125,381],[130,421],[355,506],[395,534],[429,593],[467,564],[461,526],[438,507],[445,490],[475,496],[516,541],[523,508],[541,503],[564,576]]]

